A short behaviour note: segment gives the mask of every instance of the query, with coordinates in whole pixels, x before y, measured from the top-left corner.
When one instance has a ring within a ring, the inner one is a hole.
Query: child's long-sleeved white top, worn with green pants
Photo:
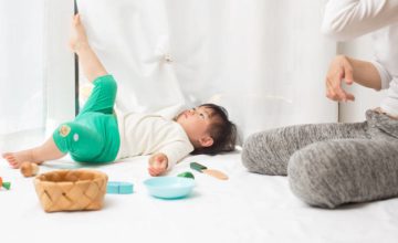
[[[160,115],[123,114],[116,110],[121,148],[116,159],[163,152],[168,169],[193,151],[184,128]]]

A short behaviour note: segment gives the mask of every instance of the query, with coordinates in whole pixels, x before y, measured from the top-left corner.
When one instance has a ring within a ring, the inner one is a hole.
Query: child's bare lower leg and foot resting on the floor
[[[15,152],[4,152],[2,155],[14,169],[20,168],[21,163],[25,161],[40,165],[43,161],[60,159],[64,156],[65,154],[60,151],[52,137],[39,147]]]

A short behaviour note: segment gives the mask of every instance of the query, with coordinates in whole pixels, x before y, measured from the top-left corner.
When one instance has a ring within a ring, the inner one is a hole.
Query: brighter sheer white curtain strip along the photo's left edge
[[[0,151],[43,134],[43,12],[42,0],[0,1]]]

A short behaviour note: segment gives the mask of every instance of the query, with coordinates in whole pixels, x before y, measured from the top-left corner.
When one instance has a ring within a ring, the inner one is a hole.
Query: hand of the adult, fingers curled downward
[[[353,65],[347,56],[337,55],[331,63],[326,75],[326,97],[336,102],[354,101],[353,94],[342,87],[343,82],[354,83]]]

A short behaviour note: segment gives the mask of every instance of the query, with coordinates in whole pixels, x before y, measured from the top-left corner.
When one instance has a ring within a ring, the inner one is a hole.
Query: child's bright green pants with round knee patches
[[[73,122],[53,133],[56,147],[80,162],[114,161],[121,145],[114,114],[117,85],[112,75],[97,77],[94,89]]]

